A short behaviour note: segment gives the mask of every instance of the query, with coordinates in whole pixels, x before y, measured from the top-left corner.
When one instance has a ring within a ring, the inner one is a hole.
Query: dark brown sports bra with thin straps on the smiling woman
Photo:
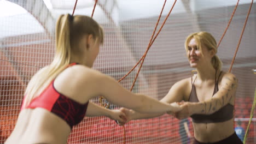
[[[221,74],[222,74],[222,71],[220,72],[219,77],[220,77]],[[217,76],[217,71],[216,71],[216,74],[215,74],[215,86],[214,86],[213,95],[219,91],[219,87],[218,87],[219,77],[218,77],[218,80],[216,80],[216,76]],[[196,95],[196,88],[195,88],[195,85],[194,85],[195,80],[193,82],[193,79],[191,77],[192,89],[191,89],[191,92],[190,92],[190,95],[189,95],[189,102],[199,102],[199,100],[197,98],[197,95]],[[231,105],[229,103],[227,105],[223,106],[218,111],[212,113],[211,115],[203,115],[203,114],[191,115],[192,121],[194,123],[225,122],[225,121],[228,121],[229,119],[231,119],[233,117],[234,117],[234,105]]]

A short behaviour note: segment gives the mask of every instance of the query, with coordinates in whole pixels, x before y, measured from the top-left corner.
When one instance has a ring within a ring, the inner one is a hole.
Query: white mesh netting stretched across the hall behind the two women
[[[75,1],[55,0],[51,1],[53,5],[49,8],[44,1],[10,2],[0,1],[0,143],[7,139],[15,126],[28,81],[37,70],[49,64],[53,58],[56,17],[61,13],[72,14],[75,3]],[[175,82],[190,77],[192,69],[185,57],[185,38],[192,32],[207,31],[218,41],[228,24],[236,2],[236,0],[225,3],[177,1],[164,28],[148,51],[133,92],[147,94],[160,100]],[[251,1],[240,2],[219,46],[217,55],[222,59],[225,71],[230,67],[249,2]],[[94,18],[104,28],[105,40],[94,69],[116,80],[123,77],[146,51],[162,4],[164,1],[98,1]],[[162,17],[167,15],[172,4],[173,1],[166,2]],[[11,7],[8,8],[7,5]],[[74,14],[91,16],[93,5],[93,1],[86,3],[78,0]],[[256,87],[256,75],[252,72],[256,67],[255,6],[254,3],[232,68],[232,73],[238,79],[235,122],[239,119],[244,129],[248,124]],[[24,9],[21,13],[15,14],[17,7]],[[160,20],[160,24],[163,20]],[[121,81],[121,85],[130,89],[137,70],[138,68]],[[92,101],[100,104],[98,98]],[[117,108],[119,106],[110,104],[110,109]],[[254,112],[255,116],[256,112]],[[186,134],[184,130],[181,135],[179,134],[179,131],[182,131],[179,122],[178,119],[168,115],[131,121],[125,125],[125,142],[182,143],[181,138],[186,137],[184,136]],[[256,121],[253,119],[247,143],[256,143],[255,125]],[[188,126],[193,135],[190,119]],[[191,139],[188,141],[191,143]],[[85,117],[73,128],[68,140],[68,143],[123,142],[123,127],[119,127],[107,117]]]

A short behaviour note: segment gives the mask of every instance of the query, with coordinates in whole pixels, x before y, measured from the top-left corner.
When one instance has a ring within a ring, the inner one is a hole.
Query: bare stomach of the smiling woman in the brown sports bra
[[[195,139],[200,142],[218,142],[234,134],[234,119],[220,123],[193,123]]]

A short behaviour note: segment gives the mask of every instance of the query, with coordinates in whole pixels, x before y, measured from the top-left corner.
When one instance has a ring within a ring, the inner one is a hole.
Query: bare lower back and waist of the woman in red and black
[[[5,144],[56,143],[66,144],[71,131],[69,125],[53,113],[41,109],[25,109]]]

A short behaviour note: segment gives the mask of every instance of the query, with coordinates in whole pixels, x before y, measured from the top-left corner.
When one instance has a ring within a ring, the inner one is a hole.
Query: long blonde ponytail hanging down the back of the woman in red
[[[28,83],[25,91],[26,99],[24,106],[28,105],[35,97],[39,89],[44,89],[59,75],[70,63],[71,46],[70,46],[70,23],[73,16],[66,14],[61,15],[56,23],[56,51],[53,62],[45,68],[38,71]]]

